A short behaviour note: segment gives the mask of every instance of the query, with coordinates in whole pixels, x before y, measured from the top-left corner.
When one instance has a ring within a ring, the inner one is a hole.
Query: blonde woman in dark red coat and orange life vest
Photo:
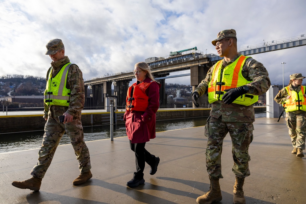
[[[126,183],[129,187],[137,187],[144,183],[145,162],[151,166],[150,174],[154,175],[159,164],[159,157],[150,154],[144,146],[155,138],[155,113],[159,108],[159,88],[145,62],[138,62],[134,67],[137,81],[128,89],[124,121],[131,150],[135,152],[136,172]]]

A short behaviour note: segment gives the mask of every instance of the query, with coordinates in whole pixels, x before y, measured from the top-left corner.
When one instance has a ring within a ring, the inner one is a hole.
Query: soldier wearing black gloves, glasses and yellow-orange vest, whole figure
[[[221,153],[223,139],[229,132],[234,160],[232,170],[236,176],[233,200],[236,204],[245,203],[242,186],[244,178],[250,175],[248,148],[253,140],[253,122],[255,121],[252,103],[258,100],[258,95],[264,94],[269,89],[271,83],[262,63],[237,52],[235,30],[219,32],[217,39],[213,40],[212,44],[219,56],[224,59],[211,67],[205,79],[192,93],[192,101],[196,107],[199,106],[197,98],[206,91],[208,91],[209,102],[212,103],[210,116],[205,125],[206,167],[211,186],[205,195],[197,198],[197,202],[211,203],[222,200],[219,185],[219,179],[223,178]],[[233,66],[235,66],[235,71],[230,69]],[[229,76],[232,78],[227,78]],[[233,82],[234,76],[238,79],[236,82]],[[249,104],[240,98],[244,98],[245,101],[250,100]]]

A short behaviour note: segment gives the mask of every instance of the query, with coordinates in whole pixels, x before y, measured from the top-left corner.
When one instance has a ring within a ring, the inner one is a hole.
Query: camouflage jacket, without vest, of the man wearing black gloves
[[[240,53],[231,61],[226,62],[224,59],[222,61],[221,69],[224,69],[227,65],[233,63]],[[204,80],[196,87],[195,91],[199,95],[203,95],[207,90],[208,84],[212,78],[214,66],[212,66]],[[248,94],[252,95],[262,95],[268,91],[271,86],[270,78],[267,69],[262,63],[248,57],[242,67],[242,76],[251,83],[246,84],[249,87]],[[253,105],[244,106],[236,103],[225,104],[223,101],[215,101],[211,104],[211,117],[219,118],[222,116],[222,121],[225,122],[254,122],[255,113]]]

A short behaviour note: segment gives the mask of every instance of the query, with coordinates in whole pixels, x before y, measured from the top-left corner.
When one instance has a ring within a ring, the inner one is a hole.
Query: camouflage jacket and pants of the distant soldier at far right
[[[289,86],[290,91],[301,91],[301,86],[293,87],[292,84]],[[287,100],[288,92],[286,88],[282,88],[281,91],[275,96],[274,101],[282,104]],[[305,150],[305,137],[306,137],[306,111],[296,110],[286,113],[286,123],[289,128],[289,136],[291,137],[291,143],[294,148],[301,148]]]

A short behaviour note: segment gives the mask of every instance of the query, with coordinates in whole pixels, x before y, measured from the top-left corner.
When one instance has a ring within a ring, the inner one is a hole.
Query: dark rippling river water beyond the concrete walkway
[[[266,113],[256,113],[255,117],[266,117]],[[171,119],[156,121],[156,132],[191,128],[206,124],[207,117]],[[110,125],[83,127],[84,140],[93,141],[110,138]],[[204,130],[204,129],[203,129]],[[125,124],[114,125],[114,138],[126,136]],[[44,131],[0,134],[0,153],[40,148]],[[70,139],[65,134],[61,144],[69,144]]]

